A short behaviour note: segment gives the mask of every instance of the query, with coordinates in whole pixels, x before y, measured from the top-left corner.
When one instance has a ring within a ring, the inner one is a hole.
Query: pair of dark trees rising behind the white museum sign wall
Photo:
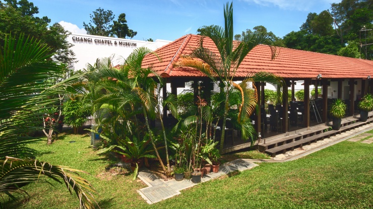
[[[89,17],[90,23],[83,22],[87,34],[131,39],[137,34],[136,31],[129,29],[125,13],[120,14],[115,21],[115,15],[111,10],[98,8]]]

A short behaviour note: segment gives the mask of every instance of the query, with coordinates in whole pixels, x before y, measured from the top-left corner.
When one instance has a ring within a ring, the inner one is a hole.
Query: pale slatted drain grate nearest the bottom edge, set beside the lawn
[[[180,194],[179,191],[175,191],[165,184],[143,188],[140,189],[139,192],[150,201],[148,201],[150,204]]]

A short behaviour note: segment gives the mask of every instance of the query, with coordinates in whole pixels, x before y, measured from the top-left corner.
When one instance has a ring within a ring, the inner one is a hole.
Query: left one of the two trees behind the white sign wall
[[[89,17],[91,18],[90,23],[86,24],[83,22],[83,26],[87,31],[87,34],[97,36],[112,36],[112,21],[114,20],[115,15],[113,15],[111,10],[105,11],[98,8],[96,11],[93,11],[93,15],[89,14]]]

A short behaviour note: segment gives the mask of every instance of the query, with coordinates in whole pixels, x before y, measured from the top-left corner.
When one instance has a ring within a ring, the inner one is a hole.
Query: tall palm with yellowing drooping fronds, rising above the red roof
[[[175,66],[194,67],[213,80],[221,81],[224,84],[225,101],[223,125],[220,139],[220,151],[223,149],[225,125],[229,111],[229,97],[231,89],[235,88],[241,92],[242,102],[239,108],[238,120],[240,124],[245,124],[243,131],[247,131],[247,126],[250,122],[247,120],[255,110],[258,95],[254,81],[266,81],[280,87],[283,82],[273,74],[261,72],[258,75],[248,75],[240,84],[232,81],[234,75],[246,57],[246,55],[257,45],[264,44],[270,46],[272,59],[276,56],[276,47],[273,47],[273,41],[266,34],[258,32],[248,32],[238,41],[233,41],[233,4],[230,6],[227,3],[224,8],[224,23],[225,27],[220,26],[204,26],[201,30],[203,36],[200,41],[200,47],[193,50],[191,58],[184,57]],[[219,54],[212,52],[210,49],[203,46],[204,39],[210,38]],[[197,58],[197,59],[194,59]],[[202,61],[200,61],[202,60]],[[254,77],[253,77],[254,76]],[[259,78],[259,80],[256,80]],[[244,132],[242,132],[245,134]],[[247,133],[247,132],[246,132]],[[249,134],[250,135],[250,134]],[[245,135],[243,135],[245,136]],[[248,136],[248,135],[246,135]]]

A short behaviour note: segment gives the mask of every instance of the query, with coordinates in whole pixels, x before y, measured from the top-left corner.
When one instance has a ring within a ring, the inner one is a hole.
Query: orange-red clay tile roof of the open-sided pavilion
[[[155,52],[161,57],[160,63],[154,55],[147,55],[143,67],[152,65],[163,77],[205,76],[200,71],[190,67],[175,67],[180,55],[189,55],[198,47],[201,36],[185,35]],[[204,47],[218,53],[211,39],[204,39]],[[366,78],[373,76],[373,61],[342,57],[336,55],[308,52],[278,47],[278,56],[271,60],[268,46],[255,47],[242,61],[235,76],[245,77],[248,73],[271,72],[283,78]]]

